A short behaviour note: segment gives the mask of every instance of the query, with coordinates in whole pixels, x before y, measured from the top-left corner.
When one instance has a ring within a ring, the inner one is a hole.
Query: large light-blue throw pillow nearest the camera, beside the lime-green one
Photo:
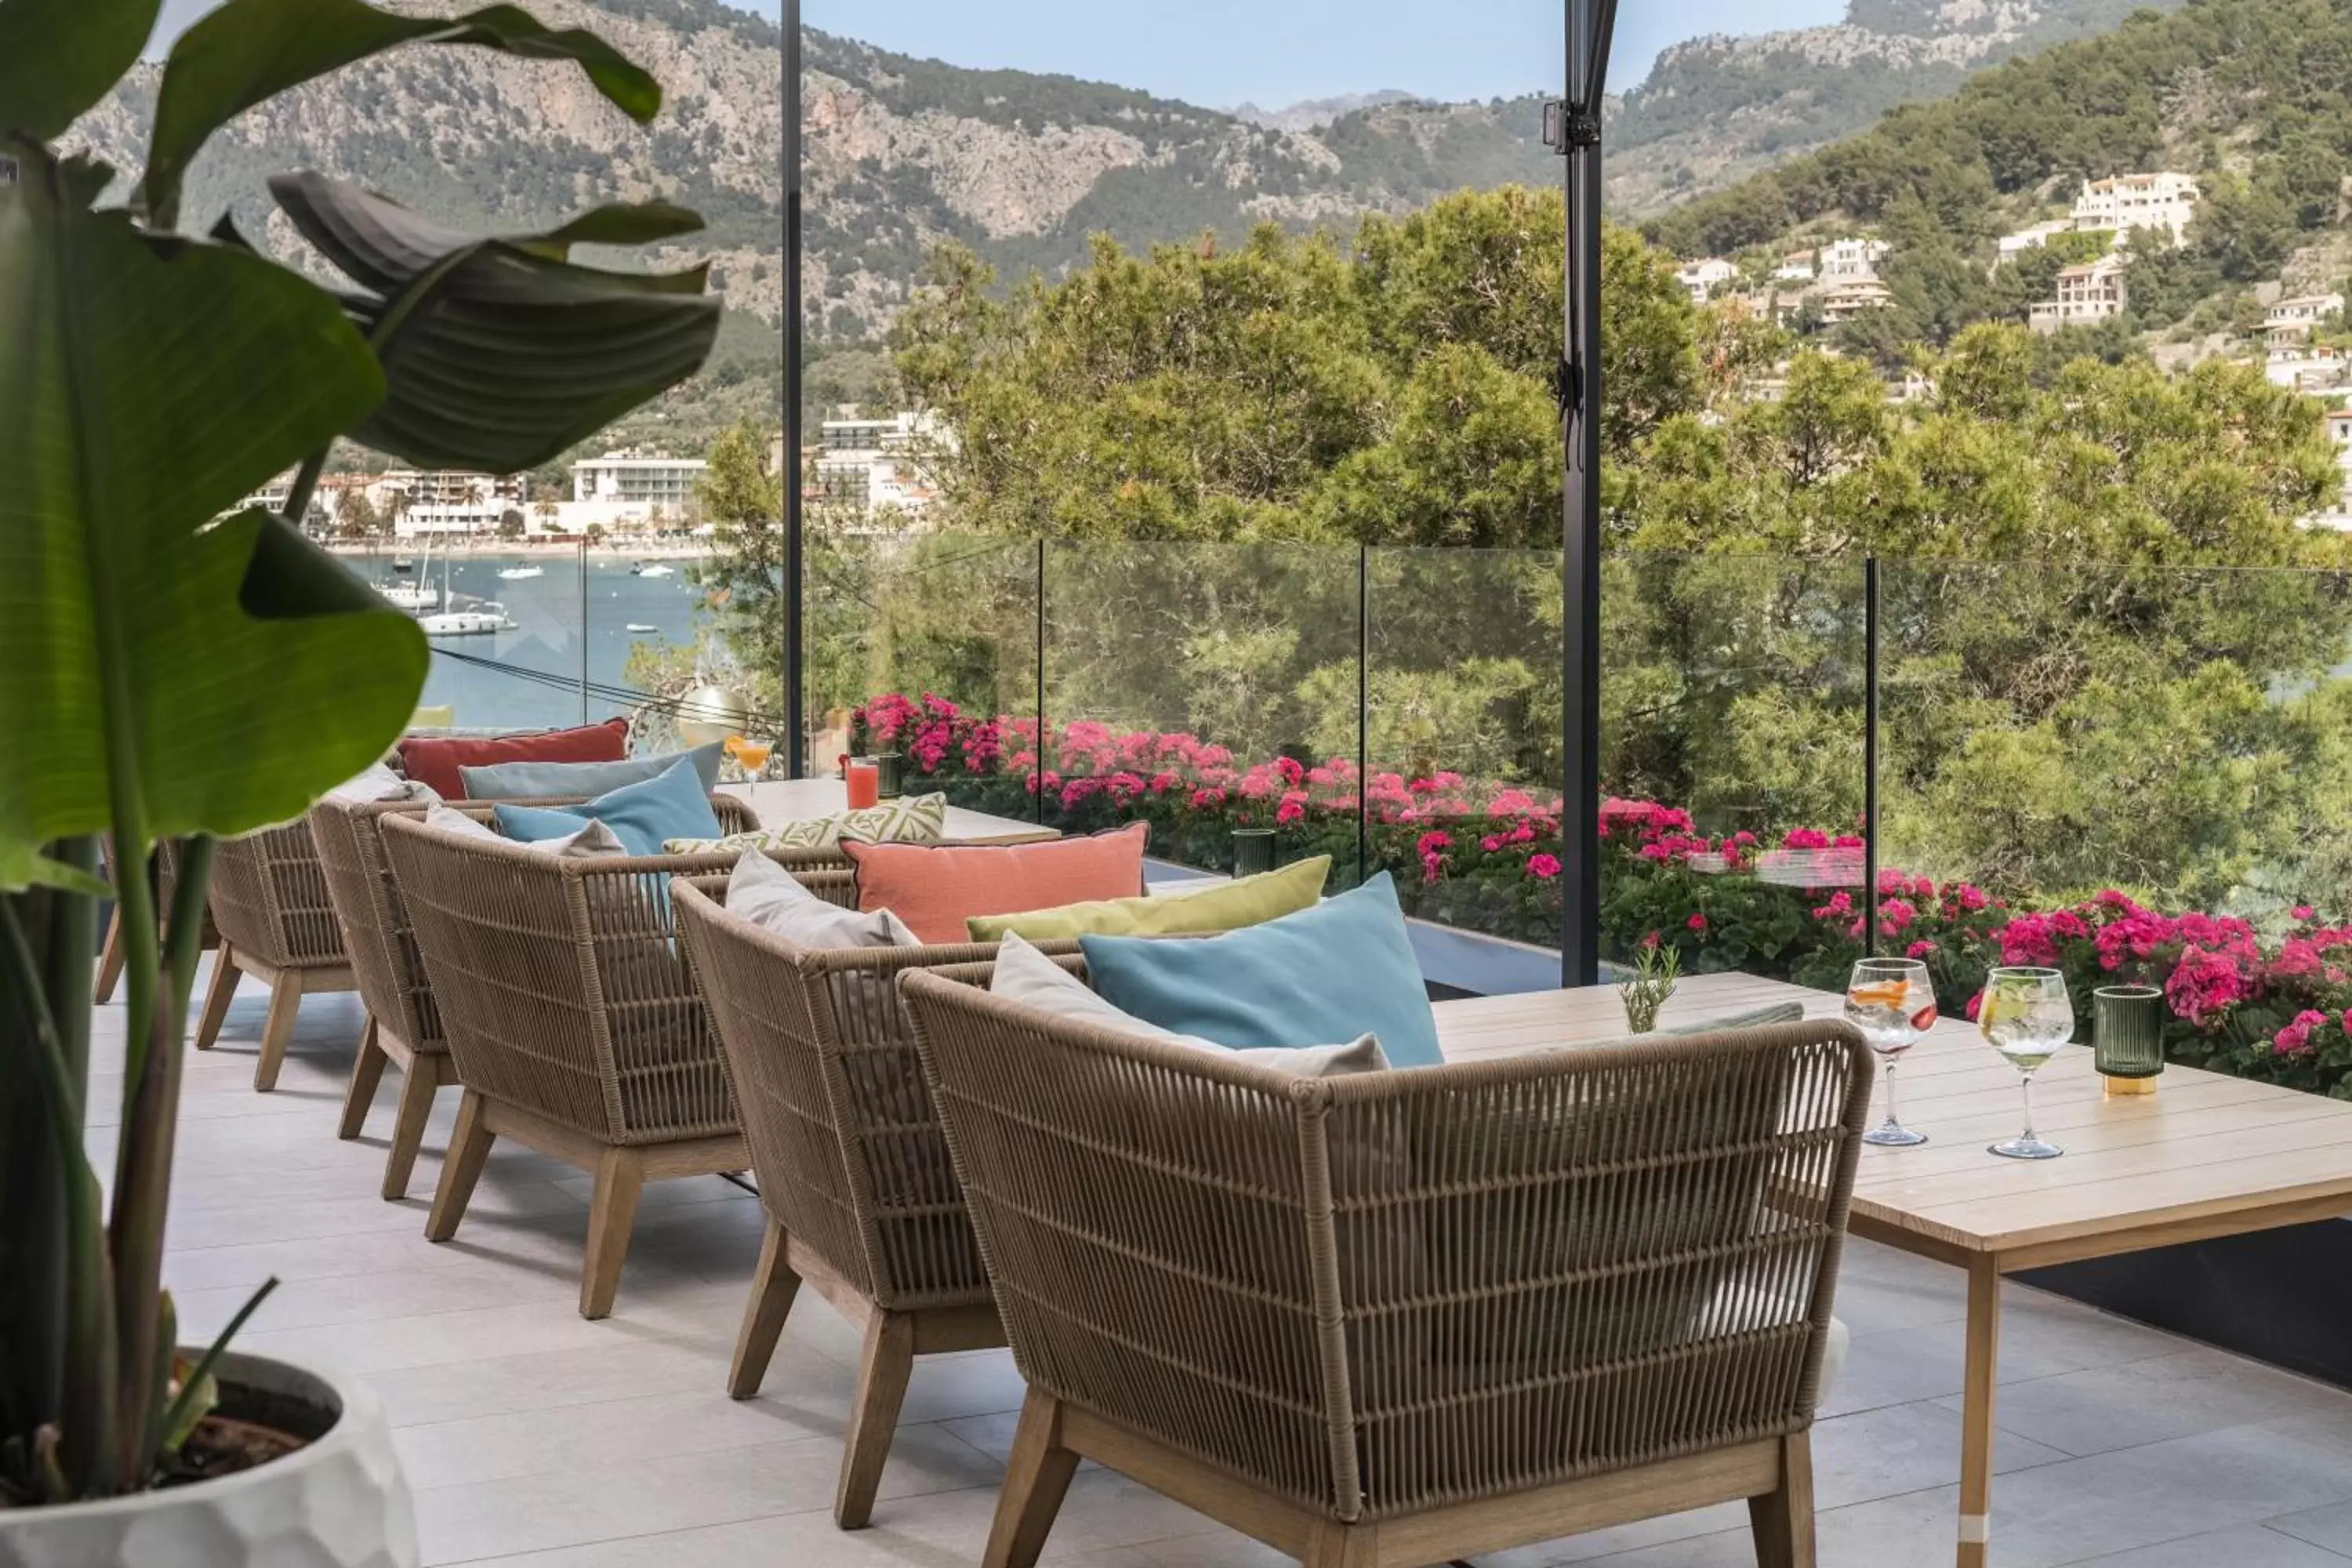
[[[1381,872],[1312,910],[1209,938],[1082,936],[1103,1001],[1221,1046],[1329,1046],[1378,1034],[1395,1067],[1435,1067],[1437,1016]]]

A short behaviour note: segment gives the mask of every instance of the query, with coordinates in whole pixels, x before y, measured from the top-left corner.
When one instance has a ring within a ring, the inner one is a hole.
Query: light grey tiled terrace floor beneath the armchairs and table
[[[200,987],[202,994],[202,987]],[[122,1009],[101,1013],[120,1067]],[[113,1025],[111,1030],[106,1025]],[[647,1190],[609,1321],[574,1309],[588,1180],[501,1145],[456,1241],[423,1239],[456,1091],[412,1197],[376,1197],[395,1077],[336,1143],[360,1009],[303,1004],[278,1093],[252,1091],[261,990],[191,1056],[167,1276],[209,1335],[263,1276],[285,1284],[245,1349],[336,1363],[376,1387],[416,1486],[428,1563],[503,1568],[950,1568],[976,1563],[1021,1382],[1009,1356],[917,1363],[875,1526],[833,1528],[856,1338],[809,1293],[764,1396],[731,1403],[727,1352],[760,1244],[722,1180]],[[113,1103],[115,1077],[94,1100]],[[101,1110],[103,1114],[103,1110]],[[113,1128],[96,1128],[99,1154]],[[2352,1307],[2352,1302],[2347,1302]],[[1816,1429],[1832,1568],[1943,1568],[1959,1474],[1962,1281],[1856,1246],[1839,1314],[1853,1359]],[[1999,1568],[2333,1568],[2352,1559],[2352,1396],[2016,1288],[2004,1321]],[[1745,1512],[1562,1540],[1491,1568],[1750,1563]],[[1087,1469],[1049,1561],[1232,1568],[1272,1554]]]

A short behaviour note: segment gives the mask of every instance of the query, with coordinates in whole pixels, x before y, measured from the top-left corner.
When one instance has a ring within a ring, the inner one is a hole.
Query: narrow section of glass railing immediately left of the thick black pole
[[[1559,983],[1559,552],[1367,557],[1367,870],[1414,919],[1545,950]]]

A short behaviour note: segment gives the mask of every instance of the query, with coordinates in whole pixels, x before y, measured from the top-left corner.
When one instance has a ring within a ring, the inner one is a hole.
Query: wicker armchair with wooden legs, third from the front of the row
[[[607,1316],[642,1185],[750,1166],[668,903],[673,875],[736,856],[560,860],[379,825],[466,1086],[426,1237],[456,1234],[496,1138],[593,1171],[581,1316]],[[849,872],[826,877],[849,896]]]

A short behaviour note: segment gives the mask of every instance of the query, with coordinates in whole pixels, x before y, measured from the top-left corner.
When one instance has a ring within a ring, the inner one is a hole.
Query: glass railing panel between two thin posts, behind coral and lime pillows
[[[1357,877],[1359,555],[1312,545],[1051,545],[1040,809],[1152,825],[1209,872],[1263,853]]]

